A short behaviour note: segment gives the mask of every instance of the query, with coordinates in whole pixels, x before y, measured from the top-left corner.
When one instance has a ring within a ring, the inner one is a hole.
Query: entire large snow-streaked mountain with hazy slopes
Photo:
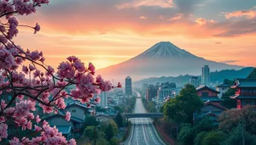
[[[171,42],[159,42],[132,59],[97,70],[96,73],[116,81],[124,80],[128,75],[133,80],[140,80],[157,76],[201,75],[204,65],[209,65],[211,71],[242,68],[197,57]]]

